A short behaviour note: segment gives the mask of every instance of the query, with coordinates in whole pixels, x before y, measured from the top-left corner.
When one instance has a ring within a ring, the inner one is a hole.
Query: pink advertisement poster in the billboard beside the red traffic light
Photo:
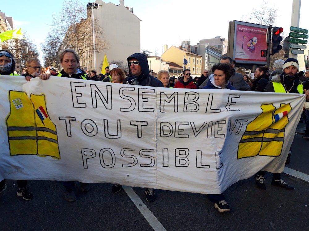
[[[267,50],[267,26],[235,22],[234,57],[237,63],[266,64],[261,50]]]

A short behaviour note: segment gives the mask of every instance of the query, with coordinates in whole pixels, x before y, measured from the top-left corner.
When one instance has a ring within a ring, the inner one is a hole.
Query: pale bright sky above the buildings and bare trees
[[[300,2],[300,0],[298,0]],[[12,3],[2,4],[0,10],[15,20],[16,26],[27,31],[40,49],[47,32],[52,24],[52,18],[62,9],[64,1],[25,1],[14,0]],[[80,0],[86,5],[89,1]],[[92,2],[92,1],[90,1]],[[119,0],[109,0],[119,5]],[[168,47],[180,46],[181,41],[189,40],[196,45],[200,39],[211,39],[221,36],[228,39],[228,25],[230,21],[244,21],[245,15],[253,8],[258,8],[262,1],[205,1],[205,0],[124,0],[124,5],[133,8],[133,13],[141,21],[141,49],[153,52],[158,50],[162,55],[164,44]],[[277,12],[276,24],[283,27],[286,36],[290,32],[292,0],[269,0],[269,7],[275,7]],[[309,1],[301,1],[300,28],[309,29],[308,14]],[[106,33],[108,34],[108,33]],[[285,37],[283,37],[284,39]]]

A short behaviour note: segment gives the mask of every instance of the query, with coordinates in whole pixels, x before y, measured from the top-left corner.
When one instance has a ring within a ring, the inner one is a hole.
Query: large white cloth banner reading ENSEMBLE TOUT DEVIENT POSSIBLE
[[[301,94],[0,76],[0,180],[221,193],[282,172]]]

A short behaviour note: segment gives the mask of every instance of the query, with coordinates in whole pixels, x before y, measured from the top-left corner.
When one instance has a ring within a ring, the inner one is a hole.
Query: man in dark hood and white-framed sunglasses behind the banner
[[[141,53],[135,53],[127,58],[129,76],[123,83],[152,87],[163,87],[163,83],[149,73],[147,57]]]

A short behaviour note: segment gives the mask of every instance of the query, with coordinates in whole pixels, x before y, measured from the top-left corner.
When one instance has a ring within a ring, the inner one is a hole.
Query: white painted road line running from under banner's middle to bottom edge
[[[128,194],[130,199],[133,201],[134,205],[138,208],[138,210],[142,213],[142,215],[146,218],[148,223],[155,231],[166,231],[163,225],[158,221],[153,213],[147,208],[147,206],[142,202],[141,198],[133,191],[133,189],[129,186],[123,185],[122,188]]]

